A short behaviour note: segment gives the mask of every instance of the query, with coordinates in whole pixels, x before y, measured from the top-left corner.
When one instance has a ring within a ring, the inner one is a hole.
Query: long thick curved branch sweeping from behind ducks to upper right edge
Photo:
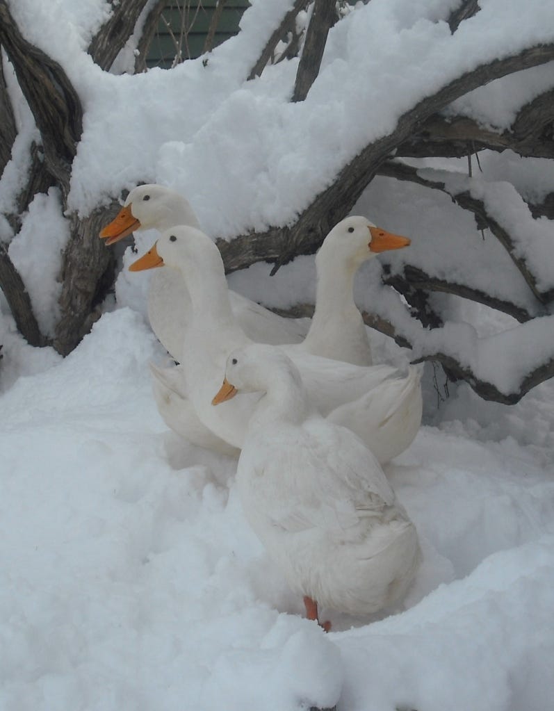
[[[478,86],[552,60],[554,44],[527,48],[479,65],[435,94],[425,97],[400,117],[392,133],[368,144],[344,166],[331,186],[314,198],[292,227],[275,227],[266,232],[240,235],[230,242],[218,240],[225,268],[233,272],[265,260],[275,262],[277,269],[297,255],[315,252],[331,227],[350,212],[380,164],[432,114]]]

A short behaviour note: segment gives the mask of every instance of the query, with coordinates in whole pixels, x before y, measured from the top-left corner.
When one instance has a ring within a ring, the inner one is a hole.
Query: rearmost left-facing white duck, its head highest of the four
[[[180,193],[166,186],[149,183],[129,192],[117,216],[100,231],[106,245],[119,242],[131,232],[156,229],[159,232],[174,225],[200,228],[191,204]],[[299,343],[309,328],[309,319],[285,319],[255,301],[230,291],[233,313],[245,333],[263,343]],[[174,360],[181,361],[181,346],[191,299],[179,274],[164,269],[153,274],[147,296],[148,318],[152,331]]]

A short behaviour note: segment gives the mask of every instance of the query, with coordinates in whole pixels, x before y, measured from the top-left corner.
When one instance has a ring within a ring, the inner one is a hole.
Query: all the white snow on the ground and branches
[[[85,214],[139,180],[157,181],[185,194],[213,237],[291,222],[426,92],[491,57],[553,39],[551,3],[529,0],[525,13],[517,2],[479,4],[454,36],[444,20],[457,0],[358,4],[332,29],[308,100],[290,105],[296,60],[251,82],[245,76],[292,0],[252,3],[241,33],[206,66],[137,76],[119,74],[134,40],[116,73],[85,54],[110,11],[105,0],[9,2],[28,40],[63,64],[85,108],[70,210]],[[5,73],[20,131],[0,180],[0,208],[10,212],[36,129],[8,65]],[[508,128],[550,86],[547,65],[491,82],[456,110]],[[483,173],[471,179],[465,161],[408,162],[471,189],[501,224],[516,225],[518,257],[541,289],[552,287],[549,223],[531,221],[519,197],[540,201],[553,190],[551,161],[481,154]],[[356,279],[358,304],[415,344],[408,352],[371,332],[377,360],[405,365],[438,349],[509,393],[551,357],[551,313],[518,324],[436,294],[445,326],[431,333],[380,283],[383,265],[394,273],[409,262],[538,316],[506,251],[489,232],[483,240],[448,196],[376,178],[353,214],[412,238],[409,250],[380,255]],[[11,240],[41,328],[53,333],[68,239],[58,192],[37,196],[15,237],[3,221],[0,237]],[[154,239],[137,235],[139,251]],[[302,600],[248,528],[236,461],[189,445],[161,420],[148,364],[166,353],[147,326],[149,274],[126,269],[135,257],[129,247],[122,253],[114,295],[65,359],[28,346],[0,299],[2,711],[275,711],[336,702],[339,711],[548,708],[554,381],[506,407],[464,383],[450,385],[449,396],[440,383],[435,391],[427,366],[425,422],[386,469],[417,525],[422,567],[398,609],[374,619],[323,611],[333,623],[326,635],[304,619]],[[271,278],[270,269],[255,264],[229,283],[282,308],[313,302],[313,257]]]

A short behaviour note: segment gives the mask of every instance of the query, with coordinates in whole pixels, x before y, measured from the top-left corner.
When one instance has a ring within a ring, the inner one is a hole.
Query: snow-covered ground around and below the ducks
[[[330,611],[326,635],[245,523],[235,461],[166,431],[140,314],[19,358],[39,372],[0,398],[3,710],[549,707],[554,383],[435,410],[427,379],[434,424],[386,468],[422,568],[404,610]]]

